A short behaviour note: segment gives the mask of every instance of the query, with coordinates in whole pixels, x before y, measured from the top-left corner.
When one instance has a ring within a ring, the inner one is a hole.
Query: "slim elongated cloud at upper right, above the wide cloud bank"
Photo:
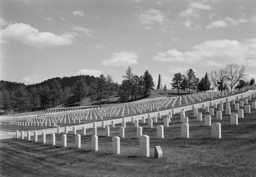
[[[250,20],[250,19],[249,19]],[[225,17],[224,19],[222,20],[218,20],[218,21],[214,21],[214,22],[211,22],[210,25],[208,25],[206,27],[206,29],[213,29],[213,28],[225,28],[225,27],[228,27],[231,26],[231,25],[235,25],[237,26],[238,24],[240,23],[247,23],[249,20],[245,19],[245,18],[240,18],[238,20],[235,20],[231,17]]]

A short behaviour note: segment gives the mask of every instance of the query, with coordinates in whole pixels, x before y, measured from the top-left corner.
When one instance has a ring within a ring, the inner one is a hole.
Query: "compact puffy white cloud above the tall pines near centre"
[[[138,55],[134,52],[127,52],[127,51],[121,51],[121,52],[114,52],[112,53],[112,57],[107,60],[102,60],[101,65],[106,66],[128,66],[138,63],[137,59]]]

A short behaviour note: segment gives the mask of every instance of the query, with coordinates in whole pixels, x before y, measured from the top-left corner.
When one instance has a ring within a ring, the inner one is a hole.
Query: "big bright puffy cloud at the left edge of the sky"
[[[24,23],[9,24],[8,27],[0,30],[0,37],[39,49],[72,44],[72,39],[68,37],[57,36],[51,32],[39,32],[38,29]]]

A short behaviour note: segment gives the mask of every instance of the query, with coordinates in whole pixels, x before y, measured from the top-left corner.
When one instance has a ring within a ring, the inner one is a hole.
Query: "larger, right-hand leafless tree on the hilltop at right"
[[[239,66],[238,64],[231,63],[226,65],[225,69],[228,73],[228,81],[230,81],[228,85],[231,87],[231,89],[240,79],[245,79],[248,75],[245,74],[246,67],[244,65]]]

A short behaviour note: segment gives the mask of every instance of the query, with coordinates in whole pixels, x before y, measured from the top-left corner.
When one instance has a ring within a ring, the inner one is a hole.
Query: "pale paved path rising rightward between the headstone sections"
[[[224,97],[224,98],[220,98],[220,99],[215,99],[212,101],[208,101],[208,102],[203,102],[203,103],[197,103],[197,104],[193,104],[196,108],[202,108],[202,104],[209,106],[210,102],[217,103],[219,104],[220,101],[226,101],[226,98],[229,98],[229,101],[231,101],[232,99],[236,99],[237,96],[240,95],[244,95],[244,98],[246,98],[248,95],[251,95],[252,93],[256,92],[256,90],[248,90],[247,92],[241,93],[241,94],[237,94],[234,96],[229,96],[229,97]],[[183,106],[180,108],[175,108],[175,113],[180,113],[181,109],[184,108],[186,111],[192,110],[192,105],[188,105],[188,106]],[[161,116],[165,116],[168,115],[168,113],[170,112],[171,109],[168,110],[164,110],[164,111],[156,111],[156,112],[152,112],[151,113],[151,118],[153,116],[157,116],[158,112],[161,112]],[[148,113],[146,114],[141,114],[141,115],[137,115],[137,116],[130,116],[130,117],[126,117],[125,120],[126,122],[130,122],[132,120],[132,117],[134,117],[134,119],[142,119],[142,116],[145,116],[145,118],[148,118]],[[115,124],[121,124],[122,123],[122,118],[118,118],[118,119],[112,119],[115,120]],[[112,120],[105,120],[105,126],[111,125],[111,121]],[[96,127],[101,127],[102,121],[96,122]],[[76,125],[76,130],[82,130],[82,127],[86,127],[86,129],[88,128],[93,128],[93,123],[88,123],[88,124],[81,124],[81,125]],[[60,131],[64,132],[65,131],[65,127],[60,127]],[[73,126],[68,126],[68,132],[73,131]],[[41,130],[31,130],[31,136],[34,135],[34,132],[38,132],[38,135],[41,135],[43,132],[45,132],[46,134],[52,134],[52,133],[56,133],[57,132],[57,128],[47,128],[47,129],[41,129]],[[7,132],[7,131],[0,131],[0,139],[10,139],[13,138],[15,132]],[[21,132],[19,133],[21,134]],[[24,131],[24,137],[27,136],[27,131]],[[19,135],[20,137],[20,135]]]

